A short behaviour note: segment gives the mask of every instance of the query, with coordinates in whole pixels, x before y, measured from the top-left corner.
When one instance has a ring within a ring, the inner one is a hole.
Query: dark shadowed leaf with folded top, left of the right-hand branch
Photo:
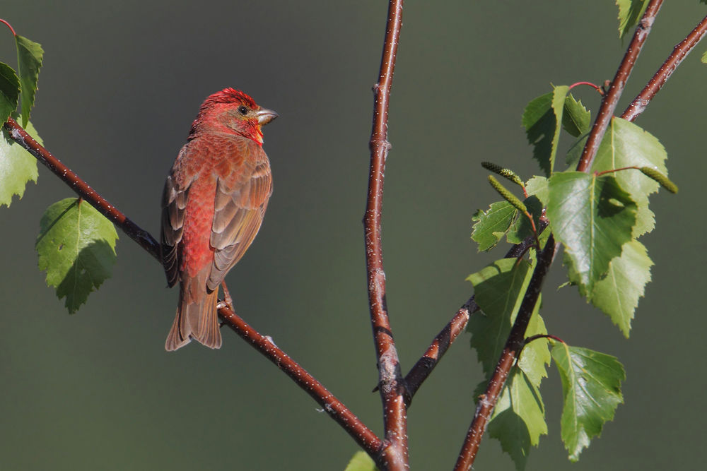
[[[496,369],[531,277],[527,261],[516,265],[515,258],[502,258],[467,278],[474,285],[474,301],[483,311],[469,319],[467,331],[472,333],[472,348],[477,349],[487,377]]]

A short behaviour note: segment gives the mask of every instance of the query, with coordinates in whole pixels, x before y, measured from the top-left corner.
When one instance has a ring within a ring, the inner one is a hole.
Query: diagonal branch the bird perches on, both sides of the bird
[[[37,141],[25,132],[16,121],[9,119],[4,126],[10,133],[13,141],[28,150],[30,154],[34,155],[37,160],[47,166],[57,177],[74,189],[80,198],[86,200],[93,208],[114,222],[128,237],[140,244],[148,254],[151,254],[158,261],[160,260],[160,245],[147,231],[141,229],[117,210],[115,206],[108,203],[105,198],[93,191],[93,189],[79,178],[78,175],[72,172],[69,167],[66,167],[57,157],[54,157],[47,149],[37,143]],[[332,393],[329,393],[322,383],[305,371],[297,362],[288,357],[285,352],[276,347],[269,337],[257,333],[255,329],[248,326],[243,319],[238,317],[233,311],[228,309],[228,307],[221,306],[218,309],[218,315],[223,320],[223,323],[233,329],[243,340],[250,343],[250,345],[264,357],[276,364],[287,376],[292,378],[300,388],[305,390],[306,393],[327,411],[329,417],[332,417],[337,424],[341,425],[341,427],[353,437],[361,448],[366,450],[374,460],[378,461],[383,448],[382,440],[379,439],[378,436],[375,436],[373,431],[370,431],[370,429],[368,429],[351,410],[346,408],[341,401],[335,398]]]

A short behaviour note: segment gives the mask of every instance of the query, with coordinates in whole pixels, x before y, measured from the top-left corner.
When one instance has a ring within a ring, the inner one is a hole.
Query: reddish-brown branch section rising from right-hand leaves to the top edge
[[[614,110],[617,107],[621,93],[624,91],[624,85],[626,85],[626,81],[629,80],[633,65],[636,64],[638,54],[641,53],[641,48],[643,44],[645,44],[645,39],[648,37],[650,28],[653,26],[653,21],[655,20],[655,16],[658,15],[658,10],[660,10],[661,5],[662,0],[650,0],[648,7],[645,8],[643,18],[641,18],[641,21],[636,27],[636,32],[633,34],[629,49],[626,50],[624,59],[621,61],[621,65],[619,65],[616,76],[614,76],[614,81],[612,81],[609,91],[602,98],[599,114],[597,114],[597,119],[594,121],[594,126],[592,127],[592,131],[582,151],[582,157],[580,157],[579,164],[577,165],[578,172],[588,172],[592,167],[592,162],[594,162],[594,157],[597,155],[597,150],[599,150],[599,145],[602,142],[604,133],[606,133],[609,127],[609,122],[614,116]]]

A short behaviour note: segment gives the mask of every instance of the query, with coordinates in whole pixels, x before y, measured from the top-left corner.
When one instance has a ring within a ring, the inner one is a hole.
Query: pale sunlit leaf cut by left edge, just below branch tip
[[[35,138],[35,141],[42,143],[42,139],[37,135],[37,130],[32,123],[28,122],[25,131]],[[6,129],[3,128],[1,133],[0,206],[9,206],[13,195],[22,198],[28,181],[32,180],[37,183],[37,159],[13,141]]]

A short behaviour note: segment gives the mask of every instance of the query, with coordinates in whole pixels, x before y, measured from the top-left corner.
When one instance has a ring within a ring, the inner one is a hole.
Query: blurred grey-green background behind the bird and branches
[[[45,49],[33,122],[47,148],[153,235],[164,179],[206,95],[240,88],[280,114],[264,129],[274,195],[228,285],[241,316],[379,433],[361,217],[386,11],[382,0],[8,0],[0,9]],[[697,0],[665,2],[619,112],[705,13]],[[406,2],[383,213],[404,371],[472,294],[464,278],[505,253],[477,254],[469,239],[472,214],[498,199],[479,162],[539,173],[522,110],[550,83],[612,78],[628,44],[616,18],[612,0]],[[3,28],[0,60],[15,64]],[[553,366],[542,387],[549,436],[528,470],[703,469],[705,49],[636,121],[667,148],[680,193],[652,198],[658,227],[641,242],[653,282],[631,339],[574,288],[556,292],[566,280],[559,260],[547,280],[549,331],[619,357],[626,404],[571,465]],[[573,93],[597,109],[592,90]],[[235,334],[223,332],[218,351],[165,352],[177,292],[124,235],[112,280],[66,314],[34,242],[43,211],[69,196],[40,167],[37,186],[0,209],[0,469],[344,469],[354,442]],[[409,412],[413,469],[451,469],[480,380],[464,334]],[[486,439],[475,469],[513,463]]]

